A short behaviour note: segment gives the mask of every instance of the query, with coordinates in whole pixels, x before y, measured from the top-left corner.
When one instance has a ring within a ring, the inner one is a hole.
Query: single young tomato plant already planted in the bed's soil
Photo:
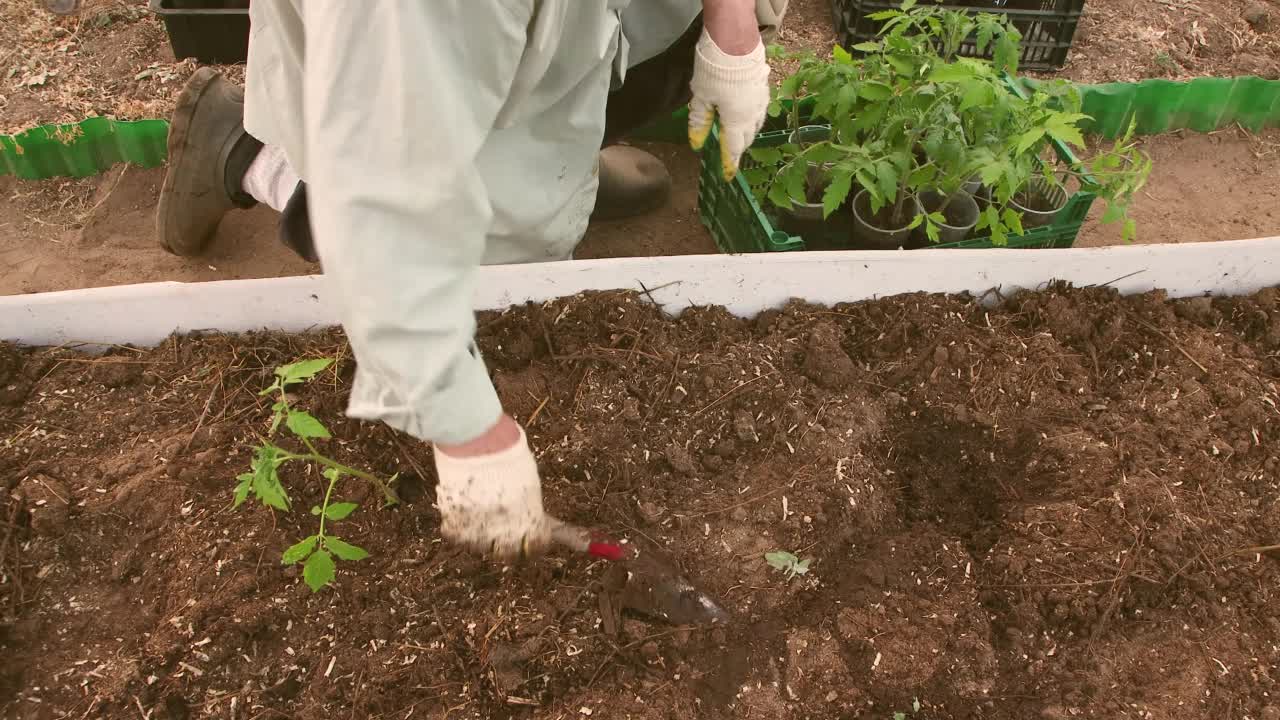
[[[321,474],[328,480],[324,500],[311,509],[311,514],[320,519],[320,527],[314,536],[308,536],[284,551],[280,561],[285,565],[302,562],[302,578],[312,592],[333,582],[337,571],[334,559],[355,561],[369,557],[364,548],[351,544],[340,537],[329,532],[329,523],[337,523],[356,511],[355,502],[334,502],[333,489],[343,477],[360,478],[376,486],[385,498],[387,505],[397,502],[396,493],[389,482],[383,482],[376,475],[349,468],[321,454],[315,441],[329,439],[329,429],[306,410],[300,410],[289,404],[288,388],[294,384],[310,380],[329,365],[332,359],[321,357],[314,360],[301,360],[275,369],[275,380],[264,388],[259,395],[275,396],[271,405],[271,423],[266,437],[253,450],[253,461],[250,471],[237,477],[234,506],[239,507],[250,495],[262,505],[288,511],[292,501],[280,483],[279,468],[285,462],[302,461],[321,465]],[[292,452],[271,442],[276,432],[284,425],[306,448],[306,452]]]

